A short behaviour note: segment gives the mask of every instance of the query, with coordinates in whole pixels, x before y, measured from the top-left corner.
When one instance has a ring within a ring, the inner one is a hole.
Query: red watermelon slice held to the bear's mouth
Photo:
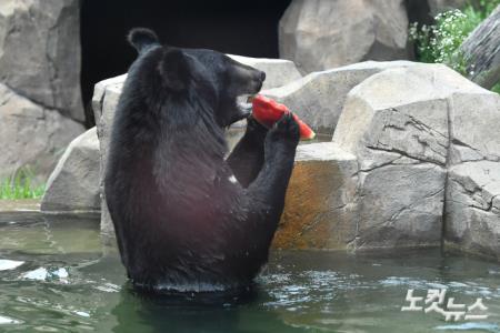
[[[252,115],[253,118],[267,128],[271,128],[274,122],[281,119],[284,113],[289,113],[290,110],[278,103],[270,98],[258,94],[252,100]],[[293,113],[293,119],[299,124],[300,139],[311,140],[314,139],[316,133],[308,127],[303,121],[299,119],[297,114]]]

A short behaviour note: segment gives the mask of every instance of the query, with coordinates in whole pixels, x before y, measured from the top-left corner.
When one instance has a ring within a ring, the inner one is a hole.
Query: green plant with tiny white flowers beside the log
[[[499,4],[500,0],[480,0],[474,6],[438,14],[432,26],[411,24],[409,38],[416,44],[417,60],[444,63],[463,75],[471,74],[460,46]],[[500,82],[492,91],[500,93]]]

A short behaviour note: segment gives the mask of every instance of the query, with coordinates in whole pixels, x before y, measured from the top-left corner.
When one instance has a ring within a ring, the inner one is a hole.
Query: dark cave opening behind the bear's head
[[[81,87],[86,105],[93,85],[127,72],[136,58],[131,28],[153,29],[162,42],[224,53],[278,58],[278,23],[291,0],[86,0],[81,8]],[[87,125],[93,114],[86,108]]]

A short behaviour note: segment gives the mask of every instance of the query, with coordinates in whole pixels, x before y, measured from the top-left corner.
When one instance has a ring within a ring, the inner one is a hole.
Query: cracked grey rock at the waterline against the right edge
[[[500,260],[500,163],[464,162],[448,178],[446,244]]]

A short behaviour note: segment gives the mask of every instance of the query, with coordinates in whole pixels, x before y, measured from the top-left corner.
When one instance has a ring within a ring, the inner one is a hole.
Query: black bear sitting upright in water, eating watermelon
[[[104,188],[122,262],[152,292],[246,289],[267,262],[283,210],[299,128],[248,119],[227,155],[224,128],[249,117],[238,98],[266,74],[202,49],[161,46],[133,29]]]

